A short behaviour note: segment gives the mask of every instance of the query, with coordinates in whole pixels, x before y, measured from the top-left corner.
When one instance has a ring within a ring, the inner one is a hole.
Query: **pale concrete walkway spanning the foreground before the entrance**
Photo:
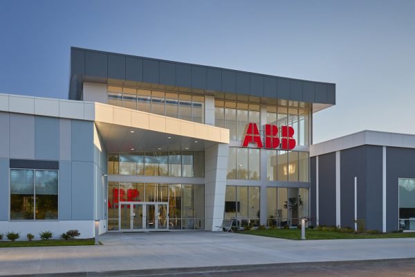
[[[0,275],[415,258],[415,238],[294,241],[188,231],[106,233],[100,241],[104,245],[0,248]]]

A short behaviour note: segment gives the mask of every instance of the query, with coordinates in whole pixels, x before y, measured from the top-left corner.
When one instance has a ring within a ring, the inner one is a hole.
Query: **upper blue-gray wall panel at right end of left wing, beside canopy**
[[[93,123],[72,120],[71,122],[72,161],[93,161]]]

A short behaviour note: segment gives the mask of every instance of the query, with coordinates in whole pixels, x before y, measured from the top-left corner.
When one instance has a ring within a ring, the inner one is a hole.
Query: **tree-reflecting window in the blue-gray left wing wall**
[[[10,220],[57,220],[57,170],[10,170]]]

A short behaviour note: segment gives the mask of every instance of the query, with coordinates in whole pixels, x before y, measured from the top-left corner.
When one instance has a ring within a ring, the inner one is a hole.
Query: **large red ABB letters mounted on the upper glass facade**
[[[255,143],[257,148],[275,149],[279,147],[281,141],[281,149],[292,150],[295,148],[294,129],[291,126],[281,126],[281,139],[278,137],[277,125],[266,124],[265,125],[265,147],[262,143],[261,136],[259,136],[259,130],[257,123],[249,123],[248,129],[246,129],[245,138],[243,139],[242,146],[248,147],[249,143]]]

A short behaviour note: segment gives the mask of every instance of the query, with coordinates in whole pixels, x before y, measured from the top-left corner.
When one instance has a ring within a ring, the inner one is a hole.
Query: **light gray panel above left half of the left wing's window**
[[[10,114],[10,158],[35,159],[35,116]]]

